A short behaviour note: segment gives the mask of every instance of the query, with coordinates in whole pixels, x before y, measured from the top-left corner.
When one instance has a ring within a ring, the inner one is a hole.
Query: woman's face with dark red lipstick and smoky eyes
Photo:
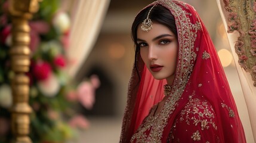
[[[162,24],[153,23],[149,32],[141,30],[140,26],[137,29],[137,43],[147,69],[155,79],[166,79],[168,84],[172,84],[178,51],[176,36]]]

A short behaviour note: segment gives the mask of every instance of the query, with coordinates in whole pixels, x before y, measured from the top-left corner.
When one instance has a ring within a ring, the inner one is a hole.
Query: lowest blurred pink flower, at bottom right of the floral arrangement
[[[72,126],[73,128],[87,129],[90,126],[90,123],[84,116],[78,115],[73,117],[69,121],[69,125]]]

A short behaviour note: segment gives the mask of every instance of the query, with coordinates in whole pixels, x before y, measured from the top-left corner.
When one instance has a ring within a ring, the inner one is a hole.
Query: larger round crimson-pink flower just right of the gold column
[[[45,80],[50,76],[51,66],[45,61],[39,61],[32,67],[32,73],[38,80]]]

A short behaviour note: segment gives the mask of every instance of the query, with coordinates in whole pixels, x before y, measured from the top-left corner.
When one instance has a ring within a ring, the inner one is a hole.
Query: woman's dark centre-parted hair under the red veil
[[[132,36],[132,41],[134,41],[134,45],[135,45],[135,61],[138,60],[137,54],[140,51],[139,45],[137,43],[138,25],[140,25],[143,22],[143,20],[147,18],[147,14],[149,13],[149,10],[152,7],[153,6],[147,7],[144,10],[140,11],[140,13],[138,13],[137,17],[135,17],[135,20],[132,23],[131,36]],[[155,7],[153,7],[153,9],[149,14],[149,18],[153,21],[153,25],[154,23],[163,24],[164,26],[168,27],[172,33],[174,33],[176,38],[178,37],[174,16],[171,14],[171,12],[167,8],[163,7],[162,5],[155,5]],[[138,73],[138,67],[136,64],[137,63],[135,62],[135,68]]]

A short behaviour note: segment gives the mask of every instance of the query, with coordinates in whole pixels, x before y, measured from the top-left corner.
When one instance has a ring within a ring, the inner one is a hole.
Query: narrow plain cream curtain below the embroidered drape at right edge
[[[227,13],[227,11],[224,9],[223,0],[217,0],[217,4],[218,4],[221,18],[223,20],[226,33],[227,33],[228,25],[229,25],[229,20],[228,20],[229,13]],[[248,21],[243,21],[243,22],[248,22]],[[235,43],[238,41],[239,36],[240,34],[238,31],[227,33],[230,48],[232,49],[233,58],[235,60],[236,69],[238,70],[238,75],[239,75],[240,83],[242,86],[243,96],[245,98],[246,106],[248,108],[249,119],[251,122],[254,141],[256,141],[256,87],[254,86],[254,82],[252,80],[251,74],[249,74],[244,69],[242,69],[242,67],[238,63],[239,57],[238,57],[238,54],[236,54]]]

